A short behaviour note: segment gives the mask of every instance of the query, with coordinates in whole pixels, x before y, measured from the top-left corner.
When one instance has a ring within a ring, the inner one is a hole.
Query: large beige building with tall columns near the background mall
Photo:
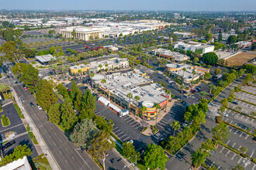
[[[104,28],[92,28],[85,26],[67,27],[65,29],[61,29],[60,32],[64,38],[74,38],[85,41],[90,39],[102,39],[105,36]],[[74,37],[73,34],[75,34]]]

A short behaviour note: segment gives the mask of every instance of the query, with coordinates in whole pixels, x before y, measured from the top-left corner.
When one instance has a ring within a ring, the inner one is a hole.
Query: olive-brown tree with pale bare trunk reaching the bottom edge
[[[103,162],[103,169],[105,170],[105,160],[106,154],[112,148],[114,148],[114,143],[109,143],[109,133],[106,131],[100,131],[94,135],[92,139],[92,148],[91,153],[96,158],[102,159]]]

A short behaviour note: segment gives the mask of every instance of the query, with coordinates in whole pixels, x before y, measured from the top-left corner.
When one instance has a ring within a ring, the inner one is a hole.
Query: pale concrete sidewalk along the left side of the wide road
[[[57,169],[57,170],[61,169],[61,168],[58,167],[57,162],[55,161],[54,157],[51,155],[49,148],[47,147],[47,145],[43,141],[43,138],[41,138],[38,129],[36,128],[35,124],[33,124],[33,121],[29,117],[29,114],[26,112],[26,110],[22,106],[22,103],[19,100],[19,97],[18,97],[16,91],[13,88],[12,88],[12,96],[16,99],[16,102],[17,102],[19,108],[22,110],[22,114],[25,117],[25,120],[22,120],[23,124],[29,124],[29,126],[31,128],[33,128],[33,134],[35,135],[36,140],[38,141],[38,144],[39,144],[39,145],[35,145],[36,151],[39,153],[39,155],[40,155],[40,153],[44,153],[44,155],[46,155],[47,160],[48,160],[48,162],[50,164],[50,167],[52,169],[54,169],[54,170],[55,169]]]

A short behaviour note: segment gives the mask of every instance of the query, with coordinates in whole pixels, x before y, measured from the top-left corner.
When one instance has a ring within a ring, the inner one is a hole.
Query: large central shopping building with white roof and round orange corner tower
[[[135,114],[140,114],[146,121],[153,121],[158,116],[155,104],[160,104],[161,109],[168,105],[169,94],[165,93],[160,84],[154,83],[140,70],[137,70],[137,73],[130,71],[101,75],[106,83],[99,80],[99,77],[95,80],[96,87],[103,94],[106,94],[111,102]],[[128,93],[131,93],[133,97],[127,97]],[[140,99],[135,100],[134,97],[136,96]],[[146,107],[144,112],[140,111],[142,106]]]

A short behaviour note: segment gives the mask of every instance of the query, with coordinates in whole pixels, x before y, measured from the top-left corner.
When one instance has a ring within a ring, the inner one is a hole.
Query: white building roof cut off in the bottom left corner
[[[19,158],[17,161],[11,162],[0,167],[0,170],[32,170],[26,156]]]

